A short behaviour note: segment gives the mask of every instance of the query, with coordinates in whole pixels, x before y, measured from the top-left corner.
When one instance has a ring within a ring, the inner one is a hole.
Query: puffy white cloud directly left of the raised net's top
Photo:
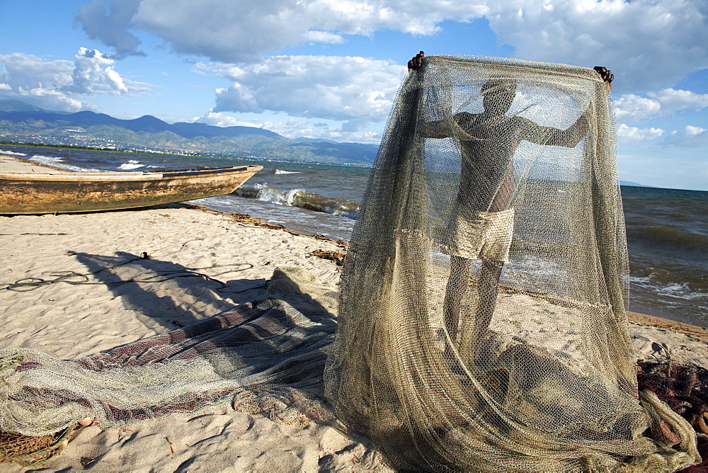
[[[285,112],[347,121],[353,132],[385,120],[404,69],[363,57],[275,56],[258,64],[197,64],[232,86],[217,89],[215,112]]]

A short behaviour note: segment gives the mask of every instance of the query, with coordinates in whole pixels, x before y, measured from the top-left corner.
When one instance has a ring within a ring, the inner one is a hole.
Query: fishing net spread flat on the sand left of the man
[[[336,294],[280,268],[256,302],[77,360],[0,350],[0,429],[49,435],[90,416],[104,428],[207,406],[280,423],[331,420],[318,399]]]

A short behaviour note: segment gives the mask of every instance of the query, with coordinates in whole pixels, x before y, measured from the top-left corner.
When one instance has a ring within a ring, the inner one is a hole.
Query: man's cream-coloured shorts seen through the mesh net
[[[442,252],[467,259],[509,261],[514,209],[481,212],[457,205],[442,241]]]

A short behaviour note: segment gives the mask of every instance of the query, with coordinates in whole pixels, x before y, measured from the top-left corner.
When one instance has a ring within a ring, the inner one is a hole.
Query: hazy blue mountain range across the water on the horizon
[[[370,166],[378,152],[375,144],[290,139],[256,127],[215,127],[196,122],[170,124],[152,115],[121,120],[88,110],[76,113],[45,110],[16,100],[0,100],[0,140],[360,166]]]

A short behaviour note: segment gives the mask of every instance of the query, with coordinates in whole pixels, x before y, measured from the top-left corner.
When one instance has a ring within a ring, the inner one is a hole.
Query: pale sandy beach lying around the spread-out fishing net
[[[9,156],[0,156],[0,169],[42,170]],[[312,253],[343,251],[336,241],[183,204],[0,216],[0,244],[0,346],[33,348],[64,360],[251,302],[278,267],[305,268],[336,290],[341,267]],[[118,268],[113,273],[125,284],[101,279],[101,270],[109,266]],[[629,317],[638,360],[670,359],[708,369],[707,330],[643,314]],[[388,470],[365,438],[347,433],[337,421],[290,426],[231,407],[125,428],[82,428],[62,455],[38,471],[84,467],[101,472]],[[25,469],[1,464],[0,471]]]

